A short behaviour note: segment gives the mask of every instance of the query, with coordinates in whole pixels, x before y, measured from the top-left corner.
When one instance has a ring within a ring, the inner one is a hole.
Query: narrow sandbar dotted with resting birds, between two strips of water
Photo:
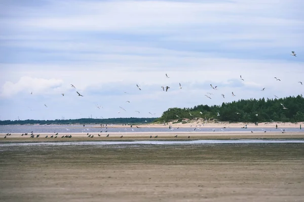
[[[304,132],[111,132],[111,133],[89,133],[94,137],[88,137],[87,133],[59,133],[57,138],[55,133],[40,133],[40,137],[30,138],[30,135],[21,136],[21,133],[11,133],[6,136],[0,133],[1,142],[18,142],[18,141],[97,141],[97,140],[197,140],[197,139],[299,139],[304,138]],[[98,134],[100,136],[98,136]],[[34,135],[37,135],[34,134]],[[46,136],[48,137],[46,138]],[[53,138],[50,136],[53,135]],[[62,136],[71,135],[71,138],[61,138]],[[106,135],[109,135],[106,137]],[[158,136],[155,138],[155,136]],[[177,137],[175,137],[177,135]],[[123,136],[123,137],[121,137]]]

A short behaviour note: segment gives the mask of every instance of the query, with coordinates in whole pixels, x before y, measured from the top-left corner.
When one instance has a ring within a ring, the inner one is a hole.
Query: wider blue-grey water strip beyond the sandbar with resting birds
[[[212,132],[213,128],[210,128],[208,126],[201,126],[197,127],[196,130],[195,126],[188,127],[188,128],[173,128],[173,130],[169,129],[169,126],[167,128],[136,128],[136,126],[133,126],[132,128],[130,126],[126,126],[126,128],[110,128],[108,126],[107,129],[103,128],[93,128],[92,126],[83,127],[83,126],[49,126],[49,125],[23,125],[23,126],[0,126],[0,133],[79,133],[79,132]],[[237,131],[277,131],[280,132],[281,130],[285,129],[286,132],[304,132],[303,130],[300,130],[299,128],[262,128],[262,127],[249,127],[247,129],[245,128],[215,128],[215,132],[237,132]]]

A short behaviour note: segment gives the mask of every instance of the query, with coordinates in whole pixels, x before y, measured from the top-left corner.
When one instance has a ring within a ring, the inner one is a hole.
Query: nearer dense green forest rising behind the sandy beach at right
[[[237,102],[223,103],[221,106],[199,105],[188,109],[170,108],[155,122],[173,120],[183,122],[183,119],[194,118],[229,122],[300,122],[304,121],[304,98],[298,95],[267,100],[264,98],[241,99]]]

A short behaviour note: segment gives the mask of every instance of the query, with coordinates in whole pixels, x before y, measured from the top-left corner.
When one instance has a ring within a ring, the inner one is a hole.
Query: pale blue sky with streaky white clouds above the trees
[[[304,94],[301,0],[0,7],[0,120],[160,117],[174,107]]]

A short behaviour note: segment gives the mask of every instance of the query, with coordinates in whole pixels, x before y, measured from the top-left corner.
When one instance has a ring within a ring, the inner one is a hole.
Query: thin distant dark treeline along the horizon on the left
[[[6,120],[0,121],[0,125],[13,125],[13,124],[143,124],[151,123],[156,118],[110,118],[110,119],[68,119],[68,120]],[[146,122],[145,122],[146,121]]]

